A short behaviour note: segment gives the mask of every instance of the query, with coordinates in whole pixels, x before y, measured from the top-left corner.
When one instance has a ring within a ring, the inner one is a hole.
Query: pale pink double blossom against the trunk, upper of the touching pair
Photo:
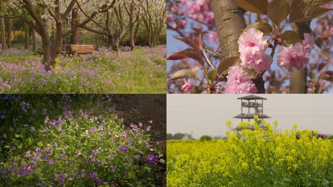
[[[268,47],[267,39],[263,37],[263,33],[255,28],[251,28],[241,34],[238,43],[240,54],[248,52],[262,54]]]

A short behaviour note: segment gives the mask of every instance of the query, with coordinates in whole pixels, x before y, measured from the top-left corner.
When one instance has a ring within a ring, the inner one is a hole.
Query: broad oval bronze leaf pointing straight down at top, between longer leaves
[[[267,8],[267,17],[276,25],[280,25],[289,13],[290,6],[286,0],[273,0]]]

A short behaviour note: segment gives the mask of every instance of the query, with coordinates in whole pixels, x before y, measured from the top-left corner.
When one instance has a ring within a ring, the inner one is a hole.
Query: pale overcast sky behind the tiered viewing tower
[[[194,138],[202,135],[224,135],[225,122],[236,126],[240,119],[238,97],[248,94],[167,94],[167,133],[193,132]],[[333,94],[257,94],[267,98],[263,112],[269,123],[277,120],[279,130],[318,130],[333,134]]]

